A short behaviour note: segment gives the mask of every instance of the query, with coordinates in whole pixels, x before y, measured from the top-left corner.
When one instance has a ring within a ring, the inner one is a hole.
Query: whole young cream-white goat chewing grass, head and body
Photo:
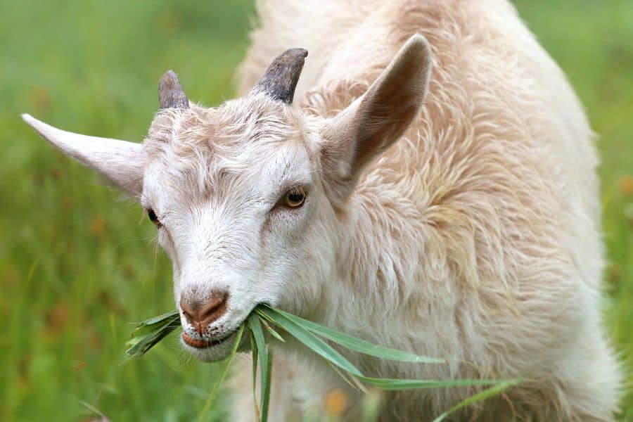
[[[174,265],[184,347],[224,357],[266,302],[451,358],[350,356],[369,374],[528,378],[460,420],[611,420],[620,375],[599,313],[592,132],[513,7],[280,0],[260,5],[260,19],[243,97],[203,108],[167,72],[142,146],[24,116],[139,197]],[[264,74],[293,45],[310,51],[295,103],[305,50]],[[318,359],[279,347],[272,420],[318,413],[333,388],[348,395],[346,419],[358,418],[359,393]],[[248,384],[240,420],[253,417]],[[474,391],[388,393],[381,418],[428,420]]]

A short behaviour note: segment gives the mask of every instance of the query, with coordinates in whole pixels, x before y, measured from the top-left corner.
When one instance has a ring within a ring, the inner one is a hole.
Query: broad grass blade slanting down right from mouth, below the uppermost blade
[[[271,321],[273,324],[283,328],[288,334],[296,338],[300,343],[303,343],[310,350],[319,354],[324,359],[332,362],[340,369],[344,369],[347,372],[354,374],[355,376],[362,376],[362,373],[354,366],[350,361],[345,359],[343,355],[333,349],[331,345],[328,345],[324,340],[317,337],[310,331],[307,331],[302,326],[295,324],[294,321],[286,318],[279,312],[273,312],[269,307],[258,307],[255,309],[257,314],[260,314],[264,318]]]

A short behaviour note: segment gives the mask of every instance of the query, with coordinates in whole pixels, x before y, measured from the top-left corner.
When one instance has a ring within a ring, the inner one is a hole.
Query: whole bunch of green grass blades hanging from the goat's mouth
[[[300,316],[290,314],[269,307],[268,305],[259,305],[248,316],[244,323],[238,328],[236,335],[236,343],[231,350],[231,354],[227,358],[224,371],[217,383],[212,388],[212,391],[207,397],[205,405],[200,411],[198,420],[202,420],[207,410],[211,407],[215,401],[215,397],[219,390],[219,385],[226,378],[226,374],[229,371],[229,366],[233,361],[235,354],[238,351],[238,347],[241,342],[243,331],[248,328],[250,335],[250,347],[252,349],[253,357],[253,395],[255,395],[255,382],[257,378],[257,364],[260,366],[260,407],[257,407],[257,397],[255,400],[255,416],[257,421],[267,422],[268,407],[270,399],[270,387],[271,387],[271,367],[272,367],[272,354],[266,343],[266,336],[264,330],[271,335],[272,338],[281,342],[285,341],[282,335],[276,331],[274,326],[281,328],[287,335],[293,336],[295,340],[302,343],[305,347],[312,350],[312,352],[319,354],[322,358],[333,365],[335,372],[339,374],[345,381],[350,383],[352,377],[354,382],[373,385],[381,390],[409,390],[420,388],[441,388],[441,387],[457,387],[457,386],[473,386],[473,385],[491,385],[490,388],[482,390],[477,394],[464,399],[454,407],[438,416],[435,421],[442,421],[446,416],[452,414],[463,407],[470,404],[480,402],[484,399],[498,395],[504,390],[511,388],[518,384],[520,380],[414,380],[414,379],[391,379],[391,378],[374,378],[365,376],[359,369],[354,366],[349,360],[343,357],[340,352],[335,350],[325,340],[329,340],[340,346],[343,346],[349,350],[366,354],[381,359],[388,359],[401,362],[417,362],[420,364],[441,364],[446,362],[445,359],[426,357],[410,352],[403,352],[395,350],[390,347],[381,345],[374,345],[366,340],[356,338],[353,335],[341,333],[340,331],[333,330],[321,324],[303,319]],[[127,345],[129,348],[125,352],[125,357],[141,357],[148,352],[154,345],[160,340],[165,338],[169,333],[180,327],[180,315],[177,311],[167,312],[160,316],[155,316],[146,321],[142,321],[134,331],[132,332],[132,338],[128,340]]]

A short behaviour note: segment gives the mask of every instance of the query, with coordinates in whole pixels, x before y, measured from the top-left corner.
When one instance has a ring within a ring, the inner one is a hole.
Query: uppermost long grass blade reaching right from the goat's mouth
[[[271,307],[269,307],[269,309],[271,309],[272,312],[286,316],[286,318],[295,322],[295,324],[298,324],[303,328],[312,331],[312,333],[321,335],[321,337],[332,340],[334,343],[338,343],[339,345],[345,346],[350,350],[355,350],[356,352],[369,354],[370,356],[374,357],[380,357],[381,359],[389,359],[402,362],[418,362],[423,364],[441,364],[446,362],[445,359],[420,356],[418,354],[391,349],[390,347],[374,345],[373,343],[369,343],[368,341],[362,340],[352,335],[340,333],[340,331],[335,331],[332,328],[328,328],[326,326],[322,326],[321,324],[316,324],[315,322],[308,321],[307,319],[303,319],[300,316],[289,314],[288,312],[284,312],[281,309]]]

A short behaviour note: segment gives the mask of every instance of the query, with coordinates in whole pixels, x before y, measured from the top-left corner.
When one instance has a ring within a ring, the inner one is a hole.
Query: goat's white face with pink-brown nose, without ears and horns
[[[184,345],[204,360],[260,303],[319,298],[335,247],[317,122],[263,94],[165,110],[144,144],[141,203],[173,262]]]

